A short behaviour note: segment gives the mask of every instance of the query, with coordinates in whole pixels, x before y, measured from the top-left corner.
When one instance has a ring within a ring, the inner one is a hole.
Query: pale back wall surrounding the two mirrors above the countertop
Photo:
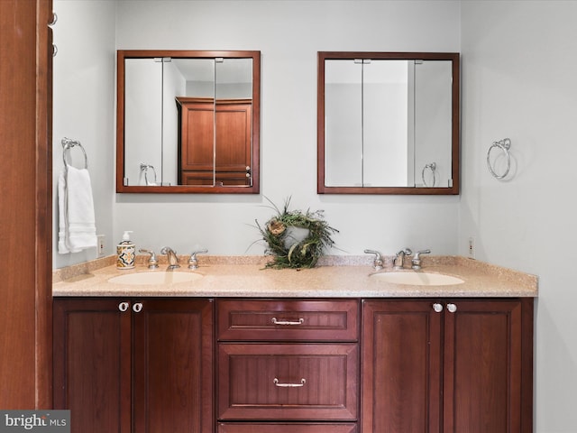
[[[333,253],[457,251],[458,197],[316,194],[316,51],[459,51],[457,1],[119,1],[118,49],[261,51],[261,195],[118,194],[114,238],[179,253],[260,254],[254,219],[325,209]],[[146,29],[142,31],[142,29]],[[248,251],[247,251],[248,249]]]

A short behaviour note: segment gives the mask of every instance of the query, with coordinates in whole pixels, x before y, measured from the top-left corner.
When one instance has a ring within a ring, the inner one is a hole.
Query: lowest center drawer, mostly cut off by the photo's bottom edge
[[[251,422],[218,424],[218,433],[357,433],[357,425],[351,422],[336,423],[301,423],[301,422]]]

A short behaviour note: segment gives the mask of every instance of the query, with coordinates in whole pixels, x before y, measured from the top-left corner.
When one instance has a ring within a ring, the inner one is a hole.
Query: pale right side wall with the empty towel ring
[[[539,276],[536,431],[577,431],[577,2],[463,1],[459,247]],[[508,137],[512,175],[487,150]]]

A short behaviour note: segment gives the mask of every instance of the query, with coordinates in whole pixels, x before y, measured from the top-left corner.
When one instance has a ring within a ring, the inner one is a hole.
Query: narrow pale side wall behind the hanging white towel
[[[96,248],[57,253],[57,180],[62,170],[63,137],[78,140],[87,152],[95,200],[96,230],[110,243],[113,234],[115,4],[100,0],[54,0],[53,27],[58,54],[53,60],[53,266],[61,268],[96,258]],[[75,166],[83,163],[73,149]],[[108,253],[112,253],[109,250]]]

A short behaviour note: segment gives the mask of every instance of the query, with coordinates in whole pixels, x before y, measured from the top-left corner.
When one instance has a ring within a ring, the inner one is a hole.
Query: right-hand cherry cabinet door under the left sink
[[[136,433],[210,433],[213,305],[209,299],[142,299],[133,312]]]

